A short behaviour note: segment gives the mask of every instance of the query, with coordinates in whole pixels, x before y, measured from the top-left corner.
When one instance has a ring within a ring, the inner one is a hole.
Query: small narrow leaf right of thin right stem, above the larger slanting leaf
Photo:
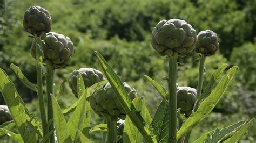
[[[208,82],[206,88],[204,89],[203,93],[201,96],[198,98],[198,101],[200,101],[203,98],[206,98],[208,95],[210,95],[211,90],[214,88],[214,85],[217,83],[217,79],[219,76],[224,72],[224,70],[228,67],[227,64],[221,65],[220,68],[217,70],[213,71],[213,74],[211,76],[210,81]]]

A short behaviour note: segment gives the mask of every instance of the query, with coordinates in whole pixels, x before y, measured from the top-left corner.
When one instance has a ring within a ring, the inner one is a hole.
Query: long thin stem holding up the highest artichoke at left
[[[45,107],[44,107],[44,94],[43,94],[43,76],[42,76],[42,64],[43,64],[43,50],[41,37],[35,35],[36,45],[36,73],[37,73],[37,95],[39,100],[39,109],[42,120],[43,135],[48,134],[48,124],[46,120]]]

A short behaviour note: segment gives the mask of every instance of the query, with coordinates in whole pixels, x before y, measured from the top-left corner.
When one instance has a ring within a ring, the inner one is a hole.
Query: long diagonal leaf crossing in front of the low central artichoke
[[[109,63],[106,62],[106,60],[103,58],[103,56],[100,55],[97,51],[95,53],[97,55],[97,58],[100,61],[100,66],[102,66],[102,69],[105,73],[105,76],[107,77],[107,80],[110,82],[111,87],[113,88],[113,91],[118,98],[118,101],[123,106],[127,115],[131,118],[133,124],[138,128],[140,133],[142,133],[142,135],[146,139],[146,141],[154,142],[153,135],[150,134],[150,131],[147,130],[147,128],[146,128],[146,126],[149,126],[149,125],[145,124],[146,122],[136,112],[136,110],[132,111],[132,108],[134,108],[134,105],[132,104],[129,95],[127,94],[127,91],[125,90],[123,82],[120,80],[118,75],[116,73],[114,73],[114,70],[109,65]]]

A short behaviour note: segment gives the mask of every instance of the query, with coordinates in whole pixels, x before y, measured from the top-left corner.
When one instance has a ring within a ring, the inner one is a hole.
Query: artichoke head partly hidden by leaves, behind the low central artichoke
[[[77,78],[78,74],[81,74],[83,77],[85,88],[90,87],[91,85],[103,81],[103,74],[93,68],[80,68],[74,70],[69,76],[69,87],[72,89],[73,94],[77,97]]]

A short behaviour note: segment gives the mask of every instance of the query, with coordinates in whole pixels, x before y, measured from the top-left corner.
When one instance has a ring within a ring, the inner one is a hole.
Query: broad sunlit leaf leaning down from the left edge
[[[0,79],[0,90],[23,141],[35,142],[36,132],[42,136],[42,130],[38,127],[39,123],[35,118],[30,117],[30,113],[26,109],[21,96],[19,96],[15,85],[3,69],[0,69]],[[28,122],[30,123],[29,125]],[[36,130],[36,132],[30,132],[31,130]]]

